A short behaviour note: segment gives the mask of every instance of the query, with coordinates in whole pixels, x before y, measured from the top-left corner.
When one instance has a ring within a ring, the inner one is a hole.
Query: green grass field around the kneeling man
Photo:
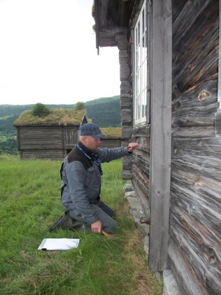
[[[101,198],[117,211],[117,236],[49,227],[63,214],[61,161],[0,157],[1,294],[162,294],[123,199],[121,160],[103,164]],[[37,250],[43,238],[81,238],[76,249]]]

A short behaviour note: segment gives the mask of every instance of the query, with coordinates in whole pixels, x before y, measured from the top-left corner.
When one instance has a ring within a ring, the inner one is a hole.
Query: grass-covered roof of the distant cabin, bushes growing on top
[[[14,125],[69,125],[80,124],[85,109],[50,109],[50,114],[45,117],[33,116],[31,110],[25,110],[14,122]]]

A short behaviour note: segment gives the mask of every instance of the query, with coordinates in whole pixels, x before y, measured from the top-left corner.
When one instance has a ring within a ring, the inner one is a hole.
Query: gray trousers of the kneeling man
[[[97,214],[99,220],[102,222],[102,230],[108,232],[108,233],[115,233],[116,228],[118,227],[118,223],[115,222],[115,220],[112,218],[116,216],[116,213],[113,209],[111,209],[108,205],[106,205],[101,200],[98,201],[98,203],[91,204],[93,208],[95,209],[95,213]],[[86,223],[86,220],[82,217],[76,216],[73,214],[73,211],[69,211],[69,215],[78,220],[79,222]]]

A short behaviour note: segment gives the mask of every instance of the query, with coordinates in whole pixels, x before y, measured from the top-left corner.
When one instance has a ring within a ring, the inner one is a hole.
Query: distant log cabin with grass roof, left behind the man
[[[20,158],[62,160],[76,145],[79,128],[87,121],[84,109],[52,109],[42,118],[26,110],[14,122]]]

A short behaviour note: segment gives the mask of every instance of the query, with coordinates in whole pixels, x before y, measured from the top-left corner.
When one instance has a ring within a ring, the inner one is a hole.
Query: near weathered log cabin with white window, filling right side
[[[123,160],[146,218],[149,268],[183,294],[221,293],[218,0],[95,0],[96,43],[117,46]]]

